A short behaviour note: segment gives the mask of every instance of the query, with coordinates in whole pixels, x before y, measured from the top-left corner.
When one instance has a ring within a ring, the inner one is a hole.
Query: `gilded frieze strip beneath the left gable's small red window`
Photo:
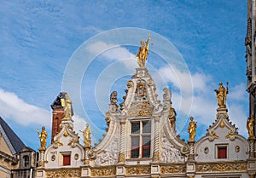
[[[81,177],[80,169],[58,169],[49,170],[46,172],[46,178],[79,178]]]

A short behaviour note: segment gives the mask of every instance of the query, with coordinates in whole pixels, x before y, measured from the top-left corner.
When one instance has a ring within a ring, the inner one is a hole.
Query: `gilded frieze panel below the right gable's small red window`
[[[247,163],[230,164],[197,164],[197,172],[243,172],[247,171]]]

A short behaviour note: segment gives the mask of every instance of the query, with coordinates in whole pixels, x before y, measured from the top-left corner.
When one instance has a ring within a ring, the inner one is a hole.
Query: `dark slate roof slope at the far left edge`
[[[14,130],[9,127],[7,123],[0,117],[0,132],[4,140],[7,142],[12,154],[19,154],[20,150],[25,144],[20,140],[20,137],[15,134]]]

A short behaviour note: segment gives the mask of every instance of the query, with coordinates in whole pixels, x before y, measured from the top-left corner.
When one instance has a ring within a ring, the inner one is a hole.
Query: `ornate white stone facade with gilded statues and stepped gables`
[[[67,93],[57,97],[52,105],[53,119],[61,120],[60,128],[53,126],[57,131],[53,131],[50,146],[42,144],[41,139],[37,178],[255,177],[253,115],[247,120],[247,139],[230,122],[225,105],[228,89],[219,83],[219,89],[215,89],[217,114],[216,118],[207,118],[215,121],[206,135],[195,141],[196,118],[191,117],[189,140],[180,140],[172,92],[163,89],[163,100],[158,100],[157,86],[145,66],[148,40],[137,53],[138,67],[126,83],[124,100],[118,101],[116,91],[110,95],[105,116],[108,129],[98,145],[91,146],[88,124],[83,131],[84,143],[79,143],[79,135],[73,130],[72,101]],[[42,130],[40,138],[44,135]]]

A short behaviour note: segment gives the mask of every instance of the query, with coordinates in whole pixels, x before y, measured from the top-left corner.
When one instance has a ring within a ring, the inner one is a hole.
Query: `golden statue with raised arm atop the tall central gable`
[[[150,39],[150,35],[148,35],[148,39],[145,43],[143,42],[143,40],[141,41],[141,47],[139,48],[137,55],[136,55],[138,65],[143,68],[145,67],[145,62],[148,57],[148,50],[149,50],[148,41],[149,41],[149,39]]]

